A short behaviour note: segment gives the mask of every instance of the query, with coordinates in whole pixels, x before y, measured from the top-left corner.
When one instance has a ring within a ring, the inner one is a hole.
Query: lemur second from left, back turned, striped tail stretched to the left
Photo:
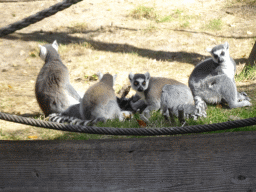
[[[131,113],[121,111],[117,103],[115,91],[113,89],[114,82],[117,75],[98,73],[99,82],[92,85],[84,94],[80,104],[71,106],[61,114],[51,114],[50,121],[54,122],[68,122],[75,125],[95,124],[98,121],[105,122],[107,119],[118,118],[120,121],[124,120],[126,116]],[[79,110],[77,108],[79,107]],[[81,118],[68,117],[72,110]],[[66,117],[65,117],[66,116]]]

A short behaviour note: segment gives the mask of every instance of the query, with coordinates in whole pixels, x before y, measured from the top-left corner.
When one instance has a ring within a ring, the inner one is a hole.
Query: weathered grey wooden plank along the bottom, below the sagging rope
[[[256,132],[0,141],[0,191],[256,191]]]

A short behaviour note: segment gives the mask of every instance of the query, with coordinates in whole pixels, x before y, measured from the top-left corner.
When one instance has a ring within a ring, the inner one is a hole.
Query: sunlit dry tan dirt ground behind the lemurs
[[[0,27],[48,8],[59,1],[0,3]],[[139,5],[153,7],[158,19],[135,19]],[[161,18],[171,16],[167,22]],[[212,20],[221,20],[219,30]],[[238,0],[84,0],[27,28],[0,38],[0,111],[42,114],[34,86],[43,61],[38,45],[59,43],[72,85],[84,92],[98,71],[117,73],[118,91],[128,73],[164,76],[187,83],[194,66],[209,57],[207,47],[227,41],[230,54],[243,68],[256,40],[256,3]],[[253,81],[238,89],[255,88]],[[251,95],[249,95],[251,96]],[[253,97],[253,96],[251,96]],[[0,121],[1,133],[28,126]],[[36,132],[35,130],[32,131]]]

